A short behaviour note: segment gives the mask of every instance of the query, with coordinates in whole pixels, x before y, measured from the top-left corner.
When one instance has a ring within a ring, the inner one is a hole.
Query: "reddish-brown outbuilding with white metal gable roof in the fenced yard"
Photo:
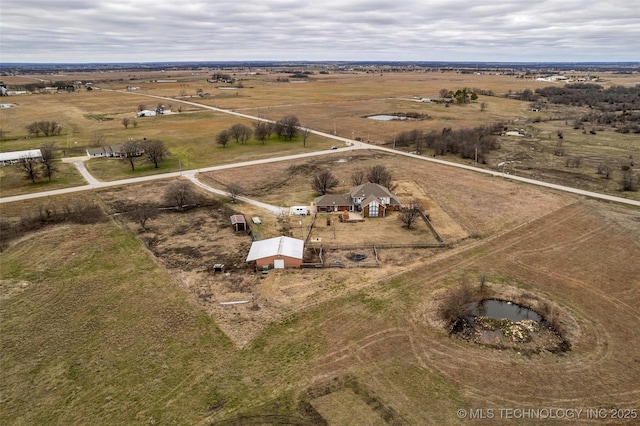
[[[247,262],[255,262],[257,269],[299,268],[304,256],[304,241],[291,237],[275,237],[254,241]]]

